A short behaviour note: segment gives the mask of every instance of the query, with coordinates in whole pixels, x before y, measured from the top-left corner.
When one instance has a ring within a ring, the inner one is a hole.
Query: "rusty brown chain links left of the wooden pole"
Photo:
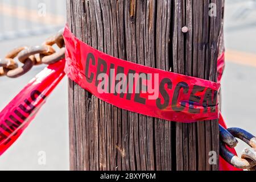
[[[30,71],[34,65],[53,64],[64,59],[65,44],[63,31],[64,29],[48,38],[41,46],[23,46],[13,49],[4,59],[0,59],[0,76],[20,77]],[[52,47],[53,44],[60,48],[59,51],[55,51]],[[18,67],[18,63],[14,60],[15,58],[23,64],[22,67]]]

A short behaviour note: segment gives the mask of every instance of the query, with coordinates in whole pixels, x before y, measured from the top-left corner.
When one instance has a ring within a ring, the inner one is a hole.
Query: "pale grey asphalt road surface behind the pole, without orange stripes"
[[[245,3],[242,3],[242,6],[247,8]],[[241,13],[246,18],[237,19],[236,15],[239,10],[237,7],[241,7],[241,5],[237,6],[232,1],[227,1],[225,22],[226,49],[249,52],[256,55],[256,16],[254,16],[256,10],[251,11],[249,15]],[[2,41],[0,42],[0,57],[3,57],[6,52],[15,46],[40,44],[48,36],[49,34]],[[42,66],[35,67],[27,75],[15,80],[0,77],[0,110],[42,69]],[[256,113],[255,93],[255,64],[245,65],[243,60],[236,62],[234,60],[227,60],[222,80],[222,114],[228,126],[242,127],[256,134],[254,116]],[[67,98],[67,77],[65,77],[48,98],[46,105],[43,106],[31,125],[28,126],[13,146],[0,157],[0,170],[69,169]],[[246,147],[245,144],[240,143],[238,144],[237,151],[241,151],[243,147]],[[46,152],[46,165],[38,164],[38,154],[40,151]]]

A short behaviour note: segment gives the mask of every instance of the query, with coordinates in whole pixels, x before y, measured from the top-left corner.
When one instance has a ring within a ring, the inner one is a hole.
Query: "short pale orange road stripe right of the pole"
[[[240,52],[235,50],[226,50],[225,60],[236,63],[256,67],[256,55],[254,53]]]

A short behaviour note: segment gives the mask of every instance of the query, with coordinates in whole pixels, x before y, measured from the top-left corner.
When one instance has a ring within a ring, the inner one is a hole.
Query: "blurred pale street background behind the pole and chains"
[[[0,57],[19,46],[35,46],[65,25],[65,0],[0,0]],[[222,114],[229,127],[256,134],[256,1],[226,0],[226,68],[222,80]],[[39,73],[0,77],[0,110]],[[48,98],[22,136],[0,156],[0,170],[68,170],[67,77]],[[246,144],[240,142],[237,151]],[[40,151],[46,165],[39,165]],[[239,152],[238,152],[239,153]]]

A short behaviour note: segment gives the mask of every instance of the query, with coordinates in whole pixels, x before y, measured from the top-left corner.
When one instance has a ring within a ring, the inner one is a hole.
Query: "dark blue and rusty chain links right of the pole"
[[[238,143],[236,138],[250,146],[242,151],[241,158],[226,148],[226,146],[236,147]],[[243,129],[233,127],[226,130],[220,125],[220,155],[234,167],[256,171],[256,137]]]

